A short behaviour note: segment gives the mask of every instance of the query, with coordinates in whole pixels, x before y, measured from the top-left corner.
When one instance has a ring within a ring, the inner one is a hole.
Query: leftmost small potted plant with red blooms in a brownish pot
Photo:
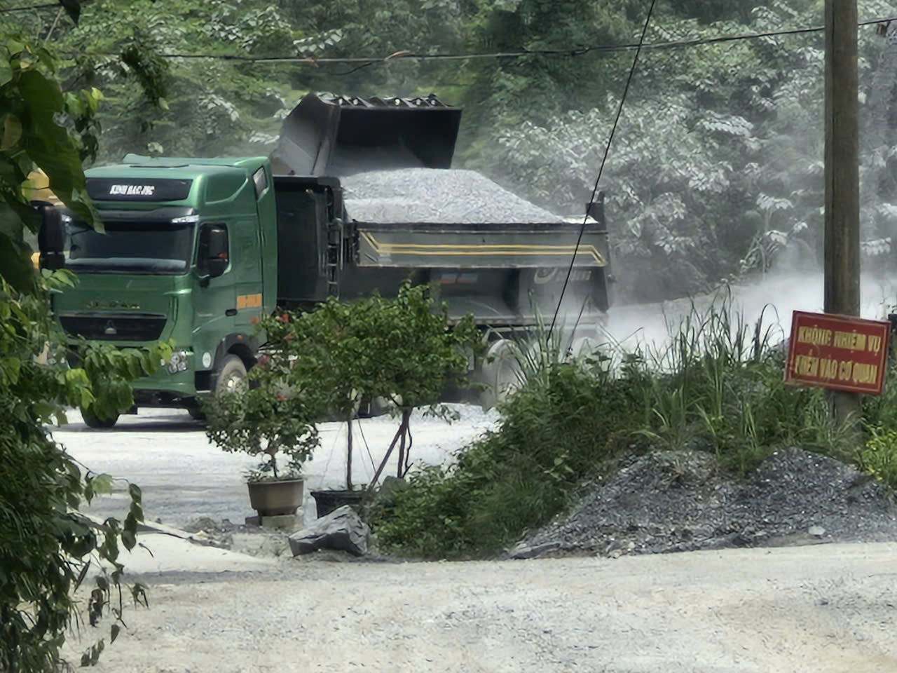
[[[302,503],[302,465],[318,447],[316,423],[326,403],[314,381],[292,367],[290,326],[287,313],[262,320],[268,348],[248,371],[248,385],[202,403],[210,441],[259,459],[248,470],[247,485],[260,517],[294,514]]]

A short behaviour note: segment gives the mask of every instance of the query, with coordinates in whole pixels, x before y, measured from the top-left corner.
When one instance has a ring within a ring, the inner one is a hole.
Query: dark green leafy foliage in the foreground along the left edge
[[[0,31],[0,670],[56,670],[65,635],[82,607],[75,591],[92,568],[111,566],[87,599],[91,625],[122,617],[119,544],[136,545],[140,489],[130,486],[124,521],[100,524],[77,508],[109,490],[108,476],[84,470],[53,440],[47,424],[65,408],[104,415],[132,406],[130,380],[155,371],[169,349],[116,351],[84,344],[68,366],[64,339],[50,318],[51,293],[74,284],[65,271],[37,272],[28,234],[40,216],[26,194],[43,170],[50,187],[85,221],[96,223],[84,193],[82,157],[93,152],[99,92],[64,92],[57,57],[21,33]],[[97,223],[99,225],[99,223]],[[144,597],[140,585],[135,597]],[[111,626],[115,640],[119,625]],[[95,663],[100,639],[85,652]]]

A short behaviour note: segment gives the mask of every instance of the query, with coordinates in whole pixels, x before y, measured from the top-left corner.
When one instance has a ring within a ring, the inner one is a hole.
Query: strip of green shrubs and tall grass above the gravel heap
[[[784,335],[772,310],[749,324],[724,294],[706,309],[692,305],[661,345],[605,339],[579,358],[544,326],[516,339],[518,389],[500,405],[501,426],[459,451],[453,467],[417,472],[382,503],[372,520],[380,544],[424,557],[492,554],[562,510],[631,443],[618,440],[636,435],[659,448],[708,451],[738,475],[779,447],[799,446],[874,463],[897,485],[897,432],[887,433],[897,431],[897,385],[864,406],[877,433],[864,448],[829,420],[822,390],[784,384]]]

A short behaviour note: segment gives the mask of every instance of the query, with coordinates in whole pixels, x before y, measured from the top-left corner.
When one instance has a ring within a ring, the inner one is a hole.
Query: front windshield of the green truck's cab
[[[67,225],[65,267],[87,273],[183,274],[193,247],[193,224],[107,223],[106,233]]]

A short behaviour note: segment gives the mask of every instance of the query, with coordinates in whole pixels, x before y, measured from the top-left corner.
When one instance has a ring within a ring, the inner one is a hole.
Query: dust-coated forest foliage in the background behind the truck
[[[560,214],[580,214],[632,57],[595,47],[631,44],[648,3],[119,0],[111,8],[111,0],[84,4],[77,26],[53,13],[29,24],[37,35],[52,32],[70,56],[70,88],[106,95],[101,160],[134,151],[268,153],[305,92],[436,92],[465,107],[457,164]],[[861,0],[859,9],[863,18],[893,11],[884,0]],[[823,22],[822,10],[820,0],[670,0],[658,4],[648,39],[806,28]],[[890,252],[897,227],[887,149],[897,125],[884,83],[897,58],[879,63],[885,41],[875,27],[860,29],[860,39],[864,138],[875,144],[866,143],[863,159],[872,258]],[[527,53],[540,49],[553,53]],[[523,55],[402,57],[496,52]],[[241,60],[254,57],[288,60]],[[319,60],[342,57],[370,60]],[[682,294],[777,259],[818,257],[822,105],[822,33],[643,53],[601,185],[623,294]],[[876,132],[882,120],[884,135]]]

